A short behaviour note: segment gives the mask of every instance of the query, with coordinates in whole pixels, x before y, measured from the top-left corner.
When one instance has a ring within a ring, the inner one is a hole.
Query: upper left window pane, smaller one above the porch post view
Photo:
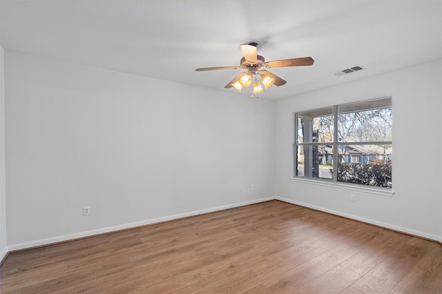
[[[333,108],[298,112],[298,143],[333,141]]]

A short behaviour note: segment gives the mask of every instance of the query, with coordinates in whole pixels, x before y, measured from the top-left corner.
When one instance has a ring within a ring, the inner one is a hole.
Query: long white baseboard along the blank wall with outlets
[[[213,212],[219,211],[219,210],[225,210],[225,209],[229,209],[229,208],[236,208],[236,207],[240,207],[240,206],[246,206],[246,205],[249,205],[249,204],[256,204],[256,203],[260,203],[260,202],[266,202],[266,201],[273,200],[273,199],[275,199],[275,197],[267,197],[267,198],[255,199],[255,200],[251,200],[251,201],[247,201],[247,202],[239,202],[239,203],[236,203],[236,204],[217,206],[217,207],[207,208],[207,209],[203,209],[203,210],[195,210],[195,211],[192,211],[192,212],[189,212],[189,213],[180,213],[178,215],[170,215],[170,216],[167,216],[167,217],[159,217],[159,218],[155,218],[155,219],[146,219],[146,220],[141,221],[141,222],[133,222],[133,223],[130,223],[130,224],[122,224],[122,225],[119,225],[119,226],[110,226],[110,227],[107,227],[107,228],[99,228],[99,229],[92,230],[92,231],[80,232],[80,233],[75,233],[75,234],[70,234],[70,235],[63,235],[63,236],[58,236],[58,237],[51,237],[51,238],[48,238],[48,239],[41,239],[41,240],[32,241],[32,242],[26,242],[26,243],[21,243],[21,244],[13,244],[13,245],[9,245],[8,246],[5,255],[8,252],[12,252],[12,251],[19,251],[19,250],[23,250],[23,249],[39,247],[39,246],[45,246],[45,245],[55,244],[55,243],[59,243],[59,242],[66,242],[66,241],[70,241],[70,240],[73,240],[73,239],[79,239],[79,238],[84,238],[84,237],[91,237],[91,236],[94,236],[94,235],[100,235],[100,234],[104,234],[104,233],[111,233],[111,232],[115,232],[115,231],[126,230],[128,228],[136,228],[138,226],[146,226],[148,224],[157,224],[157,223],[160,223],[160,222],[167,222],[167,221],[171,221],[171,220],[174,220],[174,219],[181,219],[183,217],[191,217],[191,216],[194,216],[194,215],[202,215],[204,213],[213,213]]]

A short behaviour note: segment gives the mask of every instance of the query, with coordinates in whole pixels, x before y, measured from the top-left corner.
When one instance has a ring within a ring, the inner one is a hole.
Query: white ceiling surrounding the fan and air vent
[[[273,68],[287,81],[260,97],[301,92],[441,59],[442,1],[430,0],[0,0],[6,50],[236,92],[239,45],[266,61],[311,56],[313,66]],[[333,72],[366,69],[342,77]],[[243,89],[241,95],[250,95]]]

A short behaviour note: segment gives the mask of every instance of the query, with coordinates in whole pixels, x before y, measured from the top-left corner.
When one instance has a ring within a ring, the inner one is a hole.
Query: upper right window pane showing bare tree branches
[[[391,98],[339,106],[338,112],[338,141],[392,141]]]

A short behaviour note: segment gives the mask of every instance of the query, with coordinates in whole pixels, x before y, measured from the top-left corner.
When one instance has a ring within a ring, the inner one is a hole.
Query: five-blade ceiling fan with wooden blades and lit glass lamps
[[[264,57],[257,54],[258,43],[249,43],[240,45],[242,54],[244,57],[240,60],[240,66],[219,66],[215,68],[197,68],[196,71],[205,70],[238,70],[244,69],[245,72],[241,72],[234,77],[229,84],[224,88],[236,88],[241,92],[242,87],[249,87],[253,84],[253,94],[258,94],[264,91],[264,88],[269,88],[271,85],[282,86],[287,81],[281,79],[277,75],[269,72],[268,70],[260,70],[263,66],[265,68],[283,68],[287,66],[311,66],[314,60],[311,57],[282,59],[276,61],[265,61]],[[259,76],[259,77],[258,77]],[[264,88],[262,88],[264,86]],[[253,95],[252,95],[253,97]]]

